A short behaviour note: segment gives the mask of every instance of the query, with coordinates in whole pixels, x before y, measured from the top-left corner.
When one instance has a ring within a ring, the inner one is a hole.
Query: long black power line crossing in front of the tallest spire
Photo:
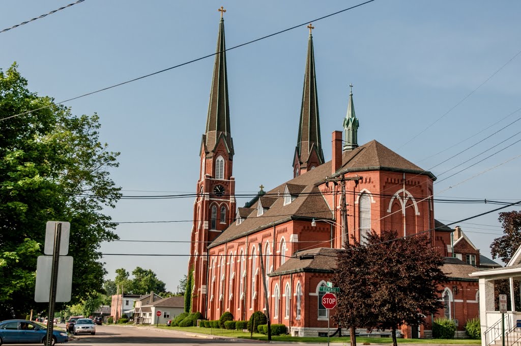
[[[83,0],[82,0],[83,1]],[[140,79],[144,79],[144,78],[147,78],[147,77],[151,77],[151,76],[154,76],[154,75],[157,75],[157,74],[160,74],[160,73],[163,73],[163,72],[166,72],[166,71],[169,71],[171,69],[174,69],[174,68],[178,68],[178,67],[181,67],[181,66],[184,66],[184,65],[188,65],[188,64],[192,64],[192,63],[195,63],[197,61],[200,61],[200,60],[203,60],[203,59],[206,59],[206,58],[209,58],[209,57],[212,57],[214,55],[217,55],[217,54],[220,54],[220,53],[223,53],[223,52],[228,52],[228,51],[231,51],[233,49],[236,49],[236,48],[239,48],[239,47],[242,47],[242,46],[245,46],[245,45],[248,45],[248,44],[251,44],[251,43],[254,43],[254,42],[257,42],[257,41],[261,41],[261,40],[264,40],[264,39],[267,39],[267,38],[270,38],[272,36],[275,36],[275,35],[278,35],[278,34],[281,34],[281,33],[284,33],[284,32],[287,32],[287,31],[290,31],[290,30],[293,30],[293,29],[296,29],[296,28],[300,28],[302,26],[306,26],[308,25],[308,23],[310,22],[317,22],[319,20],[322,20],[322,19],[326,19],[328,17],[331,17],[331,16],[334,16],[334,15],[338,15],[340,13],[343,13],[345,11],[348,11],[348,10],[351,10],[351,9],[354,9],[356,7],[360,7],[360,6],[363,6],[365,4],[368,4],[368,3],[371,3],[375,0],[368,0],[364,3],[361,3],[361,4],[358,4],[358,5],[355,5],[355,6],[351,6],[349,8],[345,8],[343,10],[340,10],[340,11],[337,11],[337,12],[334,12],[334,13],[331,13],[329,15],[326,15],[326,16],[323,16],[323,17],[319,17],[317,19],[313,19],[313,20],[308,20],[302,24],[299,24],[299,25],[295,25],[291,28],[288,28],[288,29],[284,29],[284,30],[281,30],[281,31],[277,31],[275,33],[272,33],[272,34],[269,34],[269,35],[266,35],[266,36],[263,36],[261,38],[258,38],[258,39],[255,39],[255,40],[251,40],[249,42],[245,42],[245,43],[241,43],[241,44],[238,44],[238,45],[235,45],[231,48],[228,48],[228,49],[225,49],[224,51],[220,51],[220,52],[216,52],[216,53],[213,53],[213,54],[208,54],[208,55],[205,55],[205,56],[202,56],[202,57],[199,57],[199,58],[196,58],[196,59],[193,59],[193,60],[190,60],[188,62],[184,62],[182,64],[179,64],[179,65],[175,65],[175,66],[171,66],[171,67],[168,67],[168,68],[165,68],[165,69],[162,69],[162,70],[159,70],[159,71],[156,71],[156,72],[153,72],[151,74],[148,74],[148,75],[144,75],[144,76],[141,76],[141,77],[137,77],[137,78],[133,78],[133,79],[130,79],[130,80],[127,80],[127,81],[124,81],[124,82],[121,82],[121,83],[117,83],[115,85],[112,85],[112,86],[109,86],[109,87],[106,87],[106,88],[102,88],[102,89],[98,89],[98,90],[95,90],[95,91],[91,91],[91,92],[88,92],[88,93],[85,93],[85,94],[82,94],[80,96],[77,96],[77,97],[73,97],[73,98],[70,98],[70,99],[67,99],[67,100],[64,100],[64,101],[60,101],[60,102],[57,102],[57,103],[54,103],[54,104],[62,104],[62,103],[65,103],[65,102],[69,102],[69,101],[73,101],[73,100],[77,100],[77,99],[80,99],[80,98],[83,98],[83,97],[86,97],[86,96],[90,96],[92,94],[95,94],[95,93],[98,93],[98,92],[102,92],[102,91],[105,91],[105,90],[108,90],[108,89],[112,89],[112,88],[116,88],[116,87],[119,87],[119,86],[122,86],[122,85],[125,85],[125,84],[128,84],[128,83],[131,83],[131,82],[134,82],[134,81],[137,81],[137,80],[140,80]],[[5,118],[2,118],[0,119],[0,121],[3,121],[3,120],[7,120],[9,118],[14,118],[16,116],[20,116],[20,115],[25,115],[25,114],[29,114],[31,112],[35,112],[35,111],[39,111],[39,110],[42,110],[42,109],[46,109],[46,108],[49,108],[51,107],[52,105],[46,105],[46,106],[43,106],[41,108],[37,108],[37,109],[34,109],[34,110],[30,110],[30,111],[27,111],[27,112],[23,112],[23,113],[19,113],[19,114],[15,114],[15,115],[11,115],[11,116],[8,116],[8,117],[5,117]]]

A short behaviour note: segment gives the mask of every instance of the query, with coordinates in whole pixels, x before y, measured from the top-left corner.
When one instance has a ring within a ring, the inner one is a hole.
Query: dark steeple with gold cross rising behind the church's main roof
[[[320,140],[320,121],[318,116],[317,82],[315,77],[315,53],[313,50],[314,27],[309,24],[307,42],[306,71],[302,91],[299,137],[293,159],[293,176],[305,173],[324,163],[324,152]]]

